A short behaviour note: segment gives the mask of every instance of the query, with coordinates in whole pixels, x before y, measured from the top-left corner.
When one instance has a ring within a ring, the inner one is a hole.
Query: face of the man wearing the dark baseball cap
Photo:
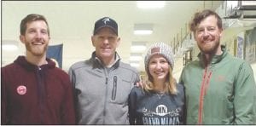
[[[108,27],[102,28],[91,37],[92,44],[96,48],[96,56],[101,60],[114,60],[119,40],[120,38]]]

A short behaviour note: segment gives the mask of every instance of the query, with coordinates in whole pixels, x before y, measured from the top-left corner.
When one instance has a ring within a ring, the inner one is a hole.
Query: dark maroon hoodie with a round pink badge
[[[1,68],[1,124],[75,124],[69,77],[47,61],[38,67],[19,56]]]

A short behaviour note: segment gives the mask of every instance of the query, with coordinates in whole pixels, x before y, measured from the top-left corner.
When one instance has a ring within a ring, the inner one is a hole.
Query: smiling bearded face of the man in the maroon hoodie
[[[26,45],[26,54],[44,56],[49,43],[47,24],[44,20],[26,23],[26,32],[20,35],[20,41]]]

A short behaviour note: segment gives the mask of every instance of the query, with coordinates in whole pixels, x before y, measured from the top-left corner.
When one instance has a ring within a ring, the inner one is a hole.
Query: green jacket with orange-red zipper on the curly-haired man
[[[256,85],[251,66],[228,54],[203,66],[202,54],[183,68],[187,124],[255,124]]]

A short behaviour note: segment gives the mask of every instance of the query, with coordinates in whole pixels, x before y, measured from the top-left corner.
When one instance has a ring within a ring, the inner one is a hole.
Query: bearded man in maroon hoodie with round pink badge
[[[46,58],[49,26],[40,14],[20,23],[26,56],[1,68],[1,124],[74,124],[73,89],[66,72]]]

